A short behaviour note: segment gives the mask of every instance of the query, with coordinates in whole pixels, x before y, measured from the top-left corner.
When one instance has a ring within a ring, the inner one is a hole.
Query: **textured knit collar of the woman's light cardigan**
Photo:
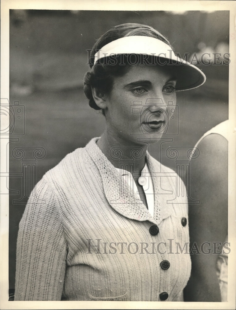
[[[90,140],[85,149],[99,170],[105,196],[110,206],[123,216],[138,221],[148,220],[154,224],[159,224],[162,219],[167,218],[172,213],[173,207],[166,203],[165,195],[158,194],[161,190],[160,177],[152,177],[154,189],[154,216],[152,217],[137,194],[131,190],[123,178],[120,178],[116,168],[97,146],[96,141],[98,139],[99,137]],[[160,163],[152,158],[148,151],[146,162],[151,175],[160,172]]]

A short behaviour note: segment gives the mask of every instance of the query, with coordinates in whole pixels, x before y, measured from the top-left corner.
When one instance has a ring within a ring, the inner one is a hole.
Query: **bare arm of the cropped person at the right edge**
[[[191,196],[200,204],[189,205],[190,249],[196,242],[201,254],[191,254],[191,277],[184,290],[185,301],[221,301],[216,274],[218,244],[228,228],[228,141],[210,134],[197,146],[198,158],[191,161]],[[203,245],[204,242],[209,242]],[[209,246],[210,244],[210,246]],[[209,250],[208,250],[209,249]],[[204,254],[202,252],[210,254]]]

